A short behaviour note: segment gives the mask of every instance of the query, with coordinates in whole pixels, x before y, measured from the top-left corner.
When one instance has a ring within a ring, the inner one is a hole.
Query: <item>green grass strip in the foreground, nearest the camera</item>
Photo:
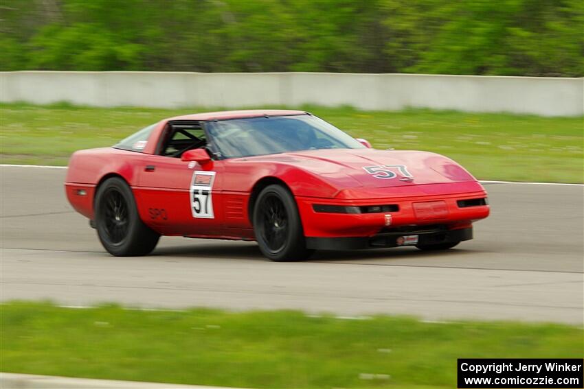
[[[0,324],[5,372],[246,388],[456,388],[459,357],[584,356],[584,331],[552,324],[22,302]]]

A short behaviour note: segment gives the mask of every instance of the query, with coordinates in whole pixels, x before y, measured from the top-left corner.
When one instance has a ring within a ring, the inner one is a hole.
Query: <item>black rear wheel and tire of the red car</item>
[[[100,185],[95,208],[98,237],[111,255],[137,257],[154,250],[160,235],[140,220],[132,189],[122,178]]]

